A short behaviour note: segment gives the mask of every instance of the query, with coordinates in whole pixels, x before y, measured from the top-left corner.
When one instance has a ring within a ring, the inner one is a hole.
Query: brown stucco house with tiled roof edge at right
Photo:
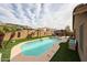
[[[78,42],[81,61],[87,61],[87,4],[79,4],[73,11],[73,29]]]

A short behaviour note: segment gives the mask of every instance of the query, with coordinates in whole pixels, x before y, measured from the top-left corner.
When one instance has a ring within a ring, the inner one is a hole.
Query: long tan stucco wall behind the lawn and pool
[[[32,33],[33,33],[32,37],[52,35],[52,31],[44,32],[44,30],[39,30],[39,31],[36,31],[36,30],[21,30],[21,31],[17,31],[17,32],[4,33],[3,41],[9,41],[12,33],[14,33],[14,35],[11,40],[25,39],[26,36],[31,35]],[[20,36],[18,36],[19,33],[20,33]]]

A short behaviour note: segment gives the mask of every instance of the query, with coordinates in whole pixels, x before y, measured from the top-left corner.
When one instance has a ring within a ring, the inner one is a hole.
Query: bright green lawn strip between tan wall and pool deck
[[[50,37],[50,36],[41,36],[41,37]],[[12,41],[10,41],[7,45],[4,42],[3,43],[3,48],[0,48],[0,53],[2,53],[2,56],[1,56],[1,61],[2,62],[9,62],[10,61],[10,53],[11,53],[11,48],[13,46],[15,46],[17,44],[21,43],[21,42],[25,42],[25,41],[31,41],[31,40],[35,40],[35,39],[41,39],[41,37],[31,37],[31,39],[23,39],[23,40],[15,40],[14,43],[12,43]]]

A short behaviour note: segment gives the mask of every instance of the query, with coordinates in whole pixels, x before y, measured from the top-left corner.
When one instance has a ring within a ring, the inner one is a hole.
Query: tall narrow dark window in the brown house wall
[[[81,52],[84,50],[83,44],[84,44],[84,24],[79,26],[79,46]]]

